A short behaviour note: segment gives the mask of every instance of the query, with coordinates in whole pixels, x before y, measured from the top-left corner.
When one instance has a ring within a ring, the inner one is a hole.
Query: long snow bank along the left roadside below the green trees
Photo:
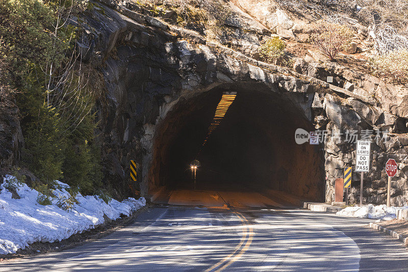
[[[43,206],[37,203],[38,192],[24,183],[17,188],[20,199],[11,198],[12,193],[4,185],[13,178],[6,175],[0,185],[0,254],[15,253],[33,242],[61,241],[104,223],[104,215],[115,220],[120,214],[129,216],[146,204],[144,198],[122,202],[112,199],[106,204],[98,196],[78,194],[79,204],[67,211],[56,205],[60,199],[70,197],[67,184],[58,182],[53,204]]]

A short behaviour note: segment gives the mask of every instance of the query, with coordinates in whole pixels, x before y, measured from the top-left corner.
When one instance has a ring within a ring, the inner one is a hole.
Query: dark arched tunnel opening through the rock
[[[203,144],[225,91],[236,91],[235,100]],[[324,200],[319,146],[295,143],[297,128],[315,128],[294,95],[304,94],[239,86],[182,97],[157,126],[150,190],[284,192]],[[195,159],[199,166],[194,178],[190,166]]]

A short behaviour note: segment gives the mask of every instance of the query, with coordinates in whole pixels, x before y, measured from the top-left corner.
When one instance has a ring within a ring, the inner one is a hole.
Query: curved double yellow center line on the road
[[[244,254],[244,252],[249,248],[252,242],[253,231],[248,220],[246,220],[245,216],[242,215],[241,213],[239,212],[234,213],[238,216],[239,220],[242,222],[242,225],[244,226],[240,243],[237,245],[237,247],[235,247],[233,253],[226,256],[221,261],[217,262],[216,264],[205,270],[206,272],[224,270],[227,266],[231,265],[233,262],[238,260],[242,256],[242,254]]]

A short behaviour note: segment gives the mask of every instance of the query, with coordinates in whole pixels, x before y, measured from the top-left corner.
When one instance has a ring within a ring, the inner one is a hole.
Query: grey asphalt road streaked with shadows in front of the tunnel
[[[407,271],[402,243],[369,220],[300,209],[156,205],[98,241],[0,271]]]

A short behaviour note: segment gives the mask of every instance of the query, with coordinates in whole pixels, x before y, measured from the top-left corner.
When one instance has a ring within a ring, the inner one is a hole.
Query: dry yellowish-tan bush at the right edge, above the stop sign
[[[371,59],[370,67],[373,73],[384,77],[393,83],[408,84],[408,50],[389,51]]]

